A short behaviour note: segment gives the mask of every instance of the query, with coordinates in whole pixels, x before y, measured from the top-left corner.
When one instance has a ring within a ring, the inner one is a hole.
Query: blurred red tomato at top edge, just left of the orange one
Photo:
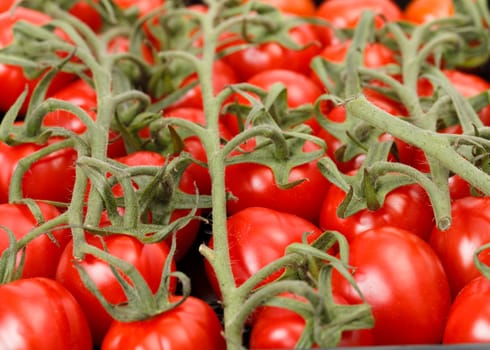
[[[377,27],[402,18],[401,9],[392,0],[324,0],[317,8],[316,16],[327,20],[335,28],[353,29],[365,10],[375,13]],[[326,26],[319,27],[319,34],[325,46],[337,41],[332,30]]]

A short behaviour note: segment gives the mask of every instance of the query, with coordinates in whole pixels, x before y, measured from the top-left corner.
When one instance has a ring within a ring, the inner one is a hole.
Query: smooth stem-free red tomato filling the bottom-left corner
[[[0,286],[0,348],[92,350],[90,330],[75,298],[42,277]]]

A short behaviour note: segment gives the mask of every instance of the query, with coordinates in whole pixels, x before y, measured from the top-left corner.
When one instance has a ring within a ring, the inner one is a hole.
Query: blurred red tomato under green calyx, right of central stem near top
[[[289,3],[296,4],[296,2]],[[321,50],[315,27],[311,24],[298,25],[289,31],[289,37],[304,48],[294,50],[277,42],[267,42],[233,52],[223,59],[242,81],[272,69],[288,69],[309,74],[310,61]],[[233,42],[233,46],[240,44],[245,44],[245,41],[237,39]]]

